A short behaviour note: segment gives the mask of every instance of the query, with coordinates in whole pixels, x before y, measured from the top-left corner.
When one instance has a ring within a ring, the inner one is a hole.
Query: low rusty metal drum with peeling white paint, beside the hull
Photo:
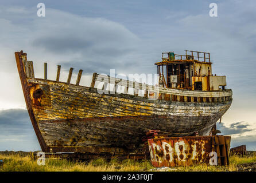
[[[227,165],[230,139],[230,136],[153,138],[148,140],[150,158],[156,167],[189,166],[209,164],[210,153],[216,152],[218,165]]]

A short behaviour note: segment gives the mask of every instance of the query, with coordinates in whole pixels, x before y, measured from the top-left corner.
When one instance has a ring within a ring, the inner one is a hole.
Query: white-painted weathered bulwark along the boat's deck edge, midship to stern
[[[165,87],[147,85],[145,83],[139,83],[135,81],[129,81],[121,78],[110,77],[109,75],[102,75],[94,73],[92,77],[91,87],[95,87],[95,82],[103,82],[103,85],[98,88],[101,93],[111,93],[110,85],[114,85],[115,93],[118,91],[118,87],[124,87],[123,94],[129,94],[129,88],[134,89],[134,96],[139,96],[139,90],[143,90],[142,97],[151,98],[152,100],[166,100],[166,101],[179,101],[179,102],[224,102],[231,100],[232,91],[196,91],[196,90],[179,90],[169,89]],[[141,92],[142,93],[142,92]]]

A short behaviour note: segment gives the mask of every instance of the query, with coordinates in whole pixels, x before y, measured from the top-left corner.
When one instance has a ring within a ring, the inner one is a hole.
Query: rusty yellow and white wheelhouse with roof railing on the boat
[[[173,89],[215,91],[224,90],[226,76],[212,74],[210,53],[185,50],[185,55],[173,51],[162,53],[155,63],[161,87]]]

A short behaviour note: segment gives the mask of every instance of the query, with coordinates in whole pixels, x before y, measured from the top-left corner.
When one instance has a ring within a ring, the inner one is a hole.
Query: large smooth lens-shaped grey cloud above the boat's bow
[[[2,47],[23,49],[28,59],[37,55],[56,65],[80,67],[87,73],[106,73],[122,67],[126,55],[138,49],[139,38],[120,23],[105,18],[88,18],[56,9],[46,9],[46,17],[37,17],[34,9],[24,9],[26,21],[20,23],[23,11],[15,8],[0,13],[1,30],[5,35]],[[6,16],[10,15],[10,17]],[[1,45],[1,43],[0,43]],[[12,53],[13,54],[13,53]],[[11,57],[13,58],[13,57]],[[135,62],[135,61],[133,61]]]

